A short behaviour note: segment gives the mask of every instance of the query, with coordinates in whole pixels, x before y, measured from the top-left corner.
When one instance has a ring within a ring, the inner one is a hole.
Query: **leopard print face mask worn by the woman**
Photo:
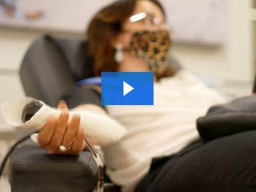
[[[144,64],[159,77],[167,67],[170,67],[167,63],[169,48],[168,31],[142,31],[132,35],[128,51],[143,60]]]

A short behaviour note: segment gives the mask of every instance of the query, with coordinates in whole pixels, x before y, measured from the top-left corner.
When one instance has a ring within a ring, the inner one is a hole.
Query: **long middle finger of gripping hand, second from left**
[[[52,134],[51,142],[49,143],[51,150],[57,149],[61,145],[68,119],[69,112],[61,112],[61,115],[59,115],[59,118],[57,120],[56,128],[54,129],[54,132]]]

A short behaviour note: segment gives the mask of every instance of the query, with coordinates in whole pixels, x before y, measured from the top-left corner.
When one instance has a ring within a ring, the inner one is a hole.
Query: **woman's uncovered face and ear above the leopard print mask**
[[[145,18],[140,19],[143,17]],[[124,22],[123,32],[117,36],[116,43],[128,47],[134,32],[159,31],[162,29],[165,29],[165,17],[159,6],[151,1],[140,0],[137,1],[131,17]]]

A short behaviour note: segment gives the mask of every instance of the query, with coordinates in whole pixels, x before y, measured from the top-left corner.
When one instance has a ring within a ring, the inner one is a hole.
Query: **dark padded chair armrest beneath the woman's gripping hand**
[[[22,145],[10,158],[12,192],[91,192],[98,178],[90,151],[80,155],[49,155],[36,145]]]

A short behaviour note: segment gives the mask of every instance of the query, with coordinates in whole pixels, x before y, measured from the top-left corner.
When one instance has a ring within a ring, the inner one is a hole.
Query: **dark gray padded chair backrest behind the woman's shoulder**
[[[19,75],[27,96],[57,106],[59,97],[79,79],[90,77],[92,61],[84,41],[44,36],[27,50]],[[87,68],[87,69],[86,69]]]

